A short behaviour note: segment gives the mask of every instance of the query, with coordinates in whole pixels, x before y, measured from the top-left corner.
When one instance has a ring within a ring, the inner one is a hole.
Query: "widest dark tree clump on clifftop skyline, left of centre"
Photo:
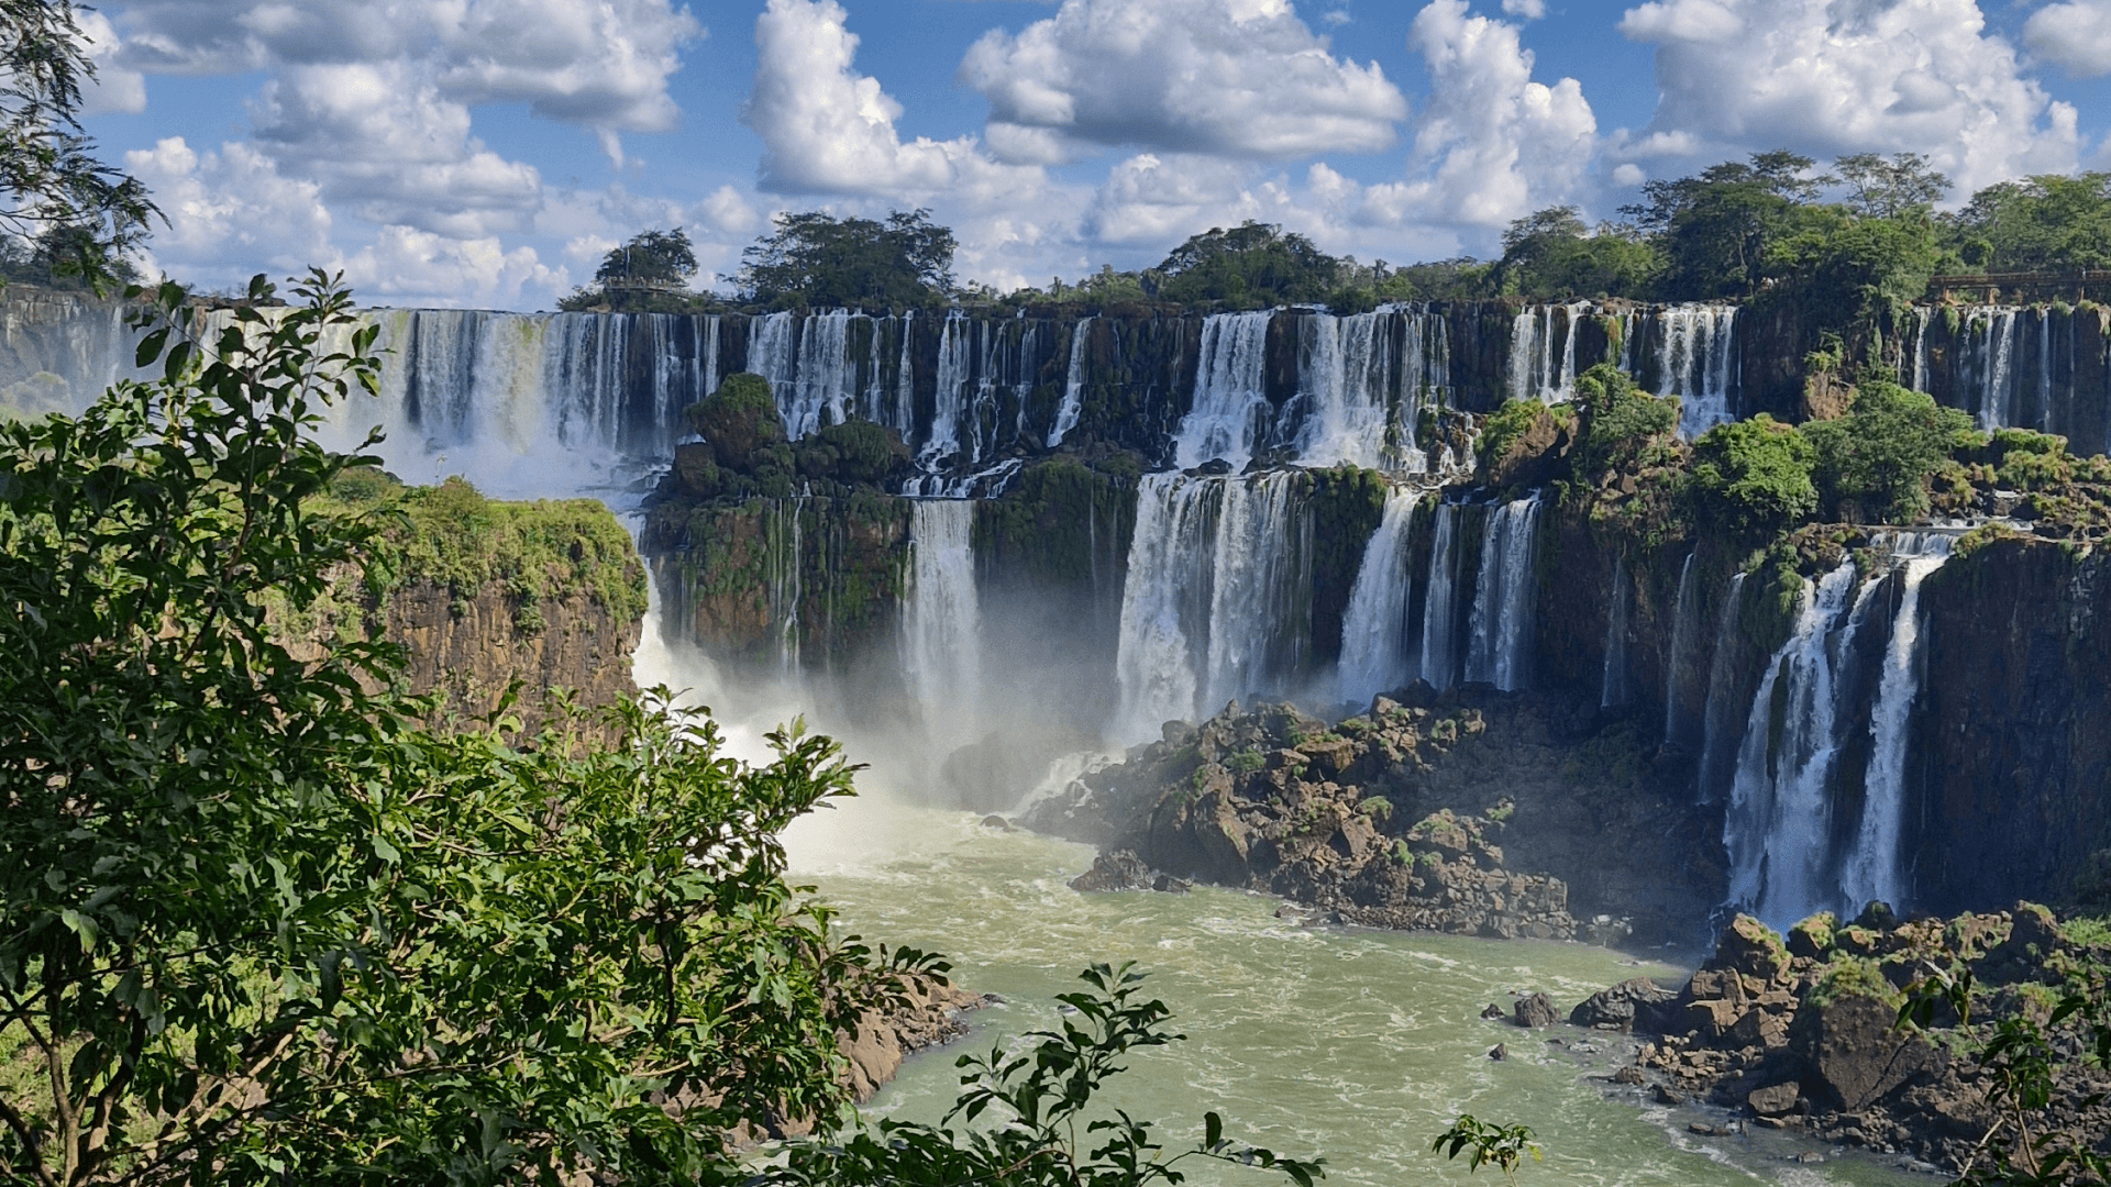
[[[887,222],[785,213],[741,256],[741,289],[779,308],[931,304],[952,296],[952,230],[927,209]]]

